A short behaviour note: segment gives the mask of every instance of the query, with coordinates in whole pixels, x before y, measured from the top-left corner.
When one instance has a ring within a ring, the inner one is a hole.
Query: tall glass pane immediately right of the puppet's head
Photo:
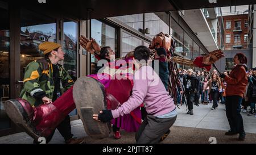
[[[171,35],[175,40],[175,52],[183,54],[184,30],[171,18]]]

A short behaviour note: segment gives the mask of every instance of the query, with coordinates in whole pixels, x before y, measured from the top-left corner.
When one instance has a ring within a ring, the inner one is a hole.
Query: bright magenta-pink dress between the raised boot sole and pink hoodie
[[[126,62],[130,60],[132,57],[127,58]],[[110,62],[109,62],[110,64]],[[128,68],[129,66],[127,66]],[[125,68],[125,69],[127,69]],[[123,69],[122,67],[115,69]],[[122,73],[121,73],[122,74]],[[131,94],[133,89],[133,74],[123,73],[122,76],[126,76],[127,79],[110,79],[109,74],[92,74],[88,77],[92,77],[100,81],[105,86],[105,91],[107,94],[113,95],[115,99],[118,100],[119,103],[126,102]],[[109,77],[106,79],[106,77]],[[111,109],[111,102],[108,100],[107,108]],[[118,128],[125,129],[127,132],[137,132],[139,126],[142,123],[141,119],[141,110],[140,107],[137,107],[135,110],[131,111],[130,114],[120,116],[117,119],[112,120],[112,124],[116,125]]]

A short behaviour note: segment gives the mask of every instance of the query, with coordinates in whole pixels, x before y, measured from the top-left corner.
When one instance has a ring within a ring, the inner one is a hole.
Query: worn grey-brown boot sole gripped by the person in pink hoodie
[[[73,99],[85,132],[96,139],[109,137],[109,124],[93,119],[93,114],[106,109],[105,87],[102,83],[90,77],[77,79],[73,86]]]

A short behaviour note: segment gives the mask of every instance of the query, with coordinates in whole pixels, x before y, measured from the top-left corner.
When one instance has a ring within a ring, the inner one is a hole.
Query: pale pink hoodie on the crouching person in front
[[[142,103],[146,105],[147,113],[154,116],[164,115],[175,109],[174,100],[151,66],[142,66],[134,73],[133,94],[117,110],[112,110],[113,118],[129,114]]]

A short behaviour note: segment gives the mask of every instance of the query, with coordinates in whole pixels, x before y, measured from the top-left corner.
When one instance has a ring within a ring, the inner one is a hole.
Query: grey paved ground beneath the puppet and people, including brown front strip
[[[219,105],[216,110],[211,110],[211,106],[200,104],[194,107],[194,115],[187,115],[185,106],[178,109],[177,120],[174,127],[171,128],[171,135],[163,143],[208,143],[209,137],[216,137],[218,143],[256,143],[256,118],[247,116],[242,112],[243,123],[245,127],[246,141],[237,141],[237,136],[224,136],[228,131],[229,124],[226,119],[224,105]],[[135,143],[134,133],[121,131],[122,139],[114,140],[113,135],[104,140],[92,140],[84,131],[81,120],[75,120],[71,123],[72,133],[80,138],[86,137],[87,143]],[[113,134],[113,133],[112,133]],[[13,135],[0,137],[0,144],[31,144],[31,137],[26,133],[15,133]],[[51,144],[63,144],[64,139],[56,130]]]

